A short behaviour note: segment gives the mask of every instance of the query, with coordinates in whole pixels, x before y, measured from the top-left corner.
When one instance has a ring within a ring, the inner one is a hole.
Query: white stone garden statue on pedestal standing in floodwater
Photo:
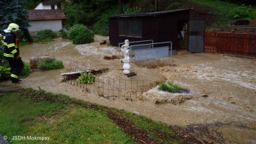
[[[129,68],[131,68],[131,66],[129,65],[129,40],[124,40],[124,45],[121,45],[121,52],[124,55],[124,66],[123,66],[123,73],[124,74],[129,74]]]

